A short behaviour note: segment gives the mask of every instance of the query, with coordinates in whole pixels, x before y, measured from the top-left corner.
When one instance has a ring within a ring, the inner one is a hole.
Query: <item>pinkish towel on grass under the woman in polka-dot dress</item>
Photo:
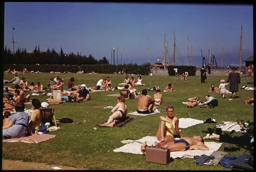
[[[51,134],[37,134],[28,137],[14,138],[14,139],[5,139],[3,142],[24,142],[29,144],[38,144],[43,141],[47,141],[55,138],[55,135]]]

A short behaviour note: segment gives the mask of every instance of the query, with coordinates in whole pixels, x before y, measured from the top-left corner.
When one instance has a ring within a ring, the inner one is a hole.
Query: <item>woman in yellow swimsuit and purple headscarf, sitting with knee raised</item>
[[[179,119],[174,117],[174,108],[172,105],[166,106],[167,116],[160,116],[161,122],[156,133],[157,140],[168,141],[173,140],[174,131],[176,131],[177,137],[180,137],[179,132]]]

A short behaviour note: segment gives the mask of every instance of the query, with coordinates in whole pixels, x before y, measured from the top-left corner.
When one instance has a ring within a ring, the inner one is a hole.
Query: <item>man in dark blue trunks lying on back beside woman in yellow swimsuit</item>
[[[155,145],[161,146],[163,148],[168,148],[170,151],[186,151],[194,148],[201,150],[209,150],[207,146],[203,144],[203,139],[200,136],[194,137],[180,137],[179,140],[169,139],[167,142],[161,141],[159,143],[155,142]],[[140,150],[144,155],[146,155],[147,143],[143,142]]]

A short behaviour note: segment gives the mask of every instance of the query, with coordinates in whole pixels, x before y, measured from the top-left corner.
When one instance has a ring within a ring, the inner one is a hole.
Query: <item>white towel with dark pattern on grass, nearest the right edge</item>
[[[247,124],[247,123],[245,123]],[[246,132],[245,128],[242,128],[237,122],[230,122],[230,121],[222,121],[222,124],[216,125],[216,128],[220,128],[222,131],[232,131],[235,132]]]

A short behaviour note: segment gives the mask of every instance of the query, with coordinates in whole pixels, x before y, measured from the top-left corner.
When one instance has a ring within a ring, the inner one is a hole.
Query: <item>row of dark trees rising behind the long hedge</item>
[[[74,54],[64,53],[62,47],[60,52],[56,52],[53,48],[47,51],[40,50],[40,45],[36,46],[32,52],[27,52],[25,49],[18,48],[12,52],[9,47],[5,46],[4,50],[4,64],[69,64],[69,65],[95,65],[95,64],[109,64],[106,57],[102,59],[95,59],[92,54],[89,56],[81,55],[77,52]]]

